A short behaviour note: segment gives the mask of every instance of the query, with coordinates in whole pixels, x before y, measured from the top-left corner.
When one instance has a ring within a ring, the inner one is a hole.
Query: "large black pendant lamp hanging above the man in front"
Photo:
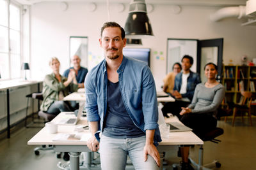
[[[154,36],[150,20],[147,16],[145,0],[131,1],[124,30],[126,38],[140,39]]]

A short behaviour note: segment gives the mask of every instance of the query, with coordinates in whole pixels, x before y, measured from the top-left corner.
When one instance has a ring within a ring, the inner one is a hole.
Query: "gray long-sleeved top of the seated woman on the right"
[[[218,84],[214,87],[205,87],[204,83],[196,85],[195,94],[188,108],[192,113],[214,112],[220,106],[225,96],[225,87]]]

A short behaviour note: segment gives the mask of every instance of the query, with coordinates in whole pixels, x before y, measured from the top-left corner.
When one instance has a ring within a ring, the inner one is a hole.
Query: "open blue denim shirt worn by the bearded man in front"
[[[125,109],[132,122],[145,132],[155,129],[154,145],[161,142],[158,128],[156,85],[145,62],[124,57],[118,67],[118,81]],[[84,83],[86,113],[89,122],[99,122],[95,137],[99,140],[107,110],[108,74],[106,60],[102,60],[87,74]]]

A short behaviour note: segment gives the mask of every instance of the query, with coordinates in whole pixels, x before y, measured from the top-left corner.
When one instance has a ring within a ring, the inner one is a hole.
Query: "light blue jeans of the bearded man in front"
[[[100,164],[102,170],[124,170],[127,155],[135,169],[156,170],[156,161],[148,155],[144,162],[143,148],[146,137],[117,139],[102,135],[100,137]]]

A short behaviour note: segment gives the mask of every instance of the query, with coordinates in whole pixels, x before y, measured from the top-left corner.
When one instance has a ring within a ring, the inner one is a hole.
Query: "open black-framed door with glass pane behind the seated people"
[[[223,55],[223,38],[219,39],[203,39],[198,41],[198,59],[197,66],[202,82],[206,81],[204,76],[204,66],[208,62],[213,62],[218,66],[218,76],[216,80],[221,78],[222,55]]]

